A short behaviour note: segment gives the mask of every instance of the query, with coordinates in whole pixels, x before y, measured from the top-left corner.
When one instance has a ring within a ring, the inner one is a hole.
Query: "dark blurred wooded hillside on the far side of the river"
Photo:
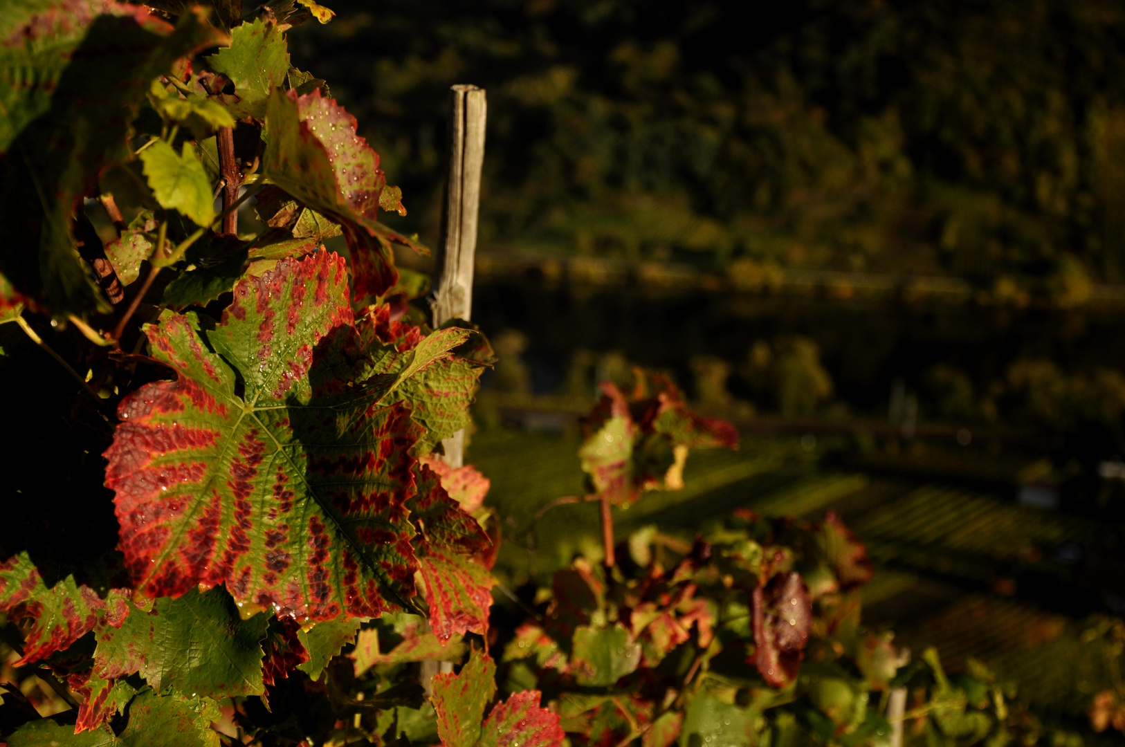
[[[1048,287],[1125,272],[1110,0],[343,4],[295,58],[410,194],[431,192],[410,218],[424,234],[441,91],[472,82],[489,94],[487,251]]]

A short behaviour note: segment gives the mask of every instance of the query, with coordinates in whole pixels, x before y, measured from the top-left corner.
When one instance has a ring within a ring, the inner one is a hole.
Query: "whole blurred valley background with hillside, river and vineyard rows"
[[[537,513],[583,492],[596,381],[642,364],[744,440],[619,541],[835,510],[865,620],[1088,729],[1125,613],[1119,3],[335,7],[294,60],[403,187],[395,227],[436,238],[444,89],[488,90],[468,459],[514,598],[601,552],[590,506]]]

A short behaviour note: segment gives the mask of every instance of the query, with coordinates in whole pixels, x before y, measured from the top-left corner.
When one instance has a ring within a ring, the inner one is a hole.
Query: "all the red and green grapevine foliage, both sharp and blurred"
[[[410,303],[395,254],[426,250],[289,63],[332,16],[298,1],[0,14],[0,742],[1034,744],[986,670],[861,627],[872,567],[835,515],[621,551],[615,507],[738,441],[640,370],[560,501],[600,506],[602,557],[489,627],[488,480],[441,442],[493,354]]]

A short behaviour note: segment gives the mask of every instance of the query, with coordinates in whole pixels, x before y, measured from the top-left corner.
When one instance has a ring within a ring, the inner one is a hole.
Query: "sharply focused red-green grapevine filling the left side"
[[[538,693],[477,718],[480,683],[466,702],[428,683],[418,716],[412,663],[487,632],[483,483],[435,448],[492,353],[407,314],[394,252],[425,249],[378,220],[400,191],[290,65],[287,29],[331,17],[303,4],[0,18],[0,303],[47,353],[8,335],[6,374],[71,377],[35,417],[57,464],[6,465],[0,554],[15,667],[71,710],[6,686],[12,747],[354,744],[426,720],[561,739]]]

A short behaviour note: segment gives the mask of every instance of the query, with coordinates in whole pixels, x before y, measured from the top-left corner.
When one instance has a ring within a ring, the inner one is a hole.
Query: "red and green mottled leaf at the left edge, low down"
[[[94,628],[119,628],[128,615],[129,593],[114,588],[102,598],[72,575],[47,588],[26,551],[0,561],[0,612],[32,621],[17,666],[64,650]]]

